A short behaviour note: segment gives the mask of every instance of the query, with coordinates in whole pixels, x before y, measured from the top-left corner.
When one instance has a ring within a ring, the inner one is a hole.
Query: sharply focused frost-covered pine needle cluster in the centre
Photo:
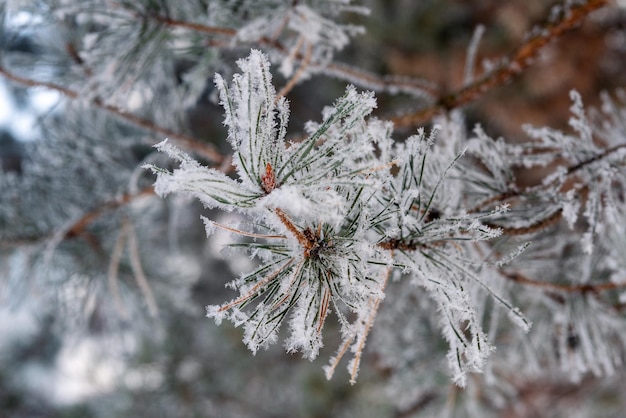
[[[352,86],[324,110],[321,122],[307,124],[304,140],[288,142],[289,106],[276,95],[268,58],[253,50],[238,65],[241,73],[230,85],[219,75],[215,79],[234,178],[167,141],[157,148],[179,167],[170,172],[147,166],[157,174],[159,195],[188,194],[208,208],[243,217],[236,226],[205,219],[209,234],[220,227],[249,237],[233,245],[258,261],[229,283],[239,296],[208,306],[208,316],[241,325],[252,352],[276,342],[284,322],[287,351],[314,359],[332,312],[342,344],[327,376],[349,350],[354,382],[385,288],[402,275],[436,302],[453,378],[464,385],[467,371],[481,371],[493,350],[471,294],[476,288],[492,293],[478,274],[485,264],[479,251],[500,236],[491,225],[507,212],[505,205],[472,212],[465,207],[456,165],[466,146],[437,127],[395,142],[391,123],[369,117],[373,95]],[[517,309],[492,297],[528,328]]]

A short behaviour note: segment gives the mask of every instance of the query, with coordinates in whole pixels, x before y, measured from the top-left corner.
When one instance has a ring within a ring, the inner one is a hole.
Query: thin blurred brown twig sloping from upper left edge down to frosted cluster
[[[12,73],[6,68],[0,66],[0,75],[3,75],[6,79],[13,81],[14,83],[20,84],[25,87],[44,87],[49,90],[56,91],[61,93],[63,96],[67,97],[71,100],[77,100],[80,98],[80,94],[74,90],[68,89],[67,87],[63,87],[59,84],[50,83],[46,81],[38,81],[30,78],[22,77],[17,74]],[[102,99],[94,99],[91,101],[91,104],[98,109],[106,110],[107,112],[112,113],[118,118],[132,123],[135,126],[139,126],[141,128],[152,131],[156,134],[162,135],[163,137],[168,137],[178,143],[181,147],[186,148],[188,150],[195,151],[199,155],[219,164],[224,156],[219,153],[212,145],[202,143],[195,138],[190,136],[181,134],[177,131],[174,131],[169,128],[165,128],[163,126],[159,126],[153,121],[149,119],[142,118],[140,116],[134,115],[118,106],[114,106],[111,104],[107,104],[102,101]]]

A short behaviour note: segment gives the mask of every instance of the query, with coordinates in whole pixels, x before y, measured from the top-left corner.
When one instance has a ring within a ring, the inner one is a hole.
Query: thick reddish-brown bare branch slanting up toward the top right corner
[[[607,0],[587,0],[581,5],[573,6],[567,13],[564,13],[561,20],[547,25],[537,35],[526,40],[526,42],[518,47],[506,62],[497,69],[490,71],[480,79],[455,92],[441,96],[431,106],[420,109],[414,113],[393,118],[393,122],[398,127],[419,125],[431,119],[442,110],[451,110],[461,107],[475,101],[487,91],[506,84],[528,68],[543,47],[565,32],[576,27],[592,11],[605,6],[607,3]]]

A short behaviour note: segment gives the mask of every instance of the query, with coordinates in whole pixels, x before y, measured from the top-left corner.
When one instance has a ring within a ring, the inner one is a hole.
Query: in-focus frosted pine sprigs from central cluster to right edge
[[[146,167],[157,174],[159,195],[190,195],[207,208],[240,216],[233,225],[204,218],[208,235],[216,228],[228,231],[233,236],[230,246],[256,263],[228,284],[238,295],[208,306],[207,316],[218,324],[226,319],[241,326],[252,352],[276,342],[285,323],[286,350],[315,359],[323,346],[325,321],[333,314],[341,344],[326,375],[330,378],[349,352],[347,367],[354,383],[388,286],[408,284],[431,301],[416,303],[433,303],[429,309],[436,311],[436,318],[429,320],[448,344],[452,380],[465,386],[468,372],[484,372],[504,326],[496,321],[502,312],[522,334],[530,329],[531,320],[511,302],[527,305],[528,295],[514,297],[507,281],[526,282],[530,295],[542,287],[575,293],[576,288],[535,281],[523,273],[526,265],[536,271],[542,264],[536,257],[550,239],[547,228],[563,218],[568,227],[558,248],[571,242],[585,257],[600,257],[601,265],[613,268],[615,261],[605,259],[604,251],[594,253],[593,243],[607,232],[600,220],[623,225],[626,146],[624,124],[616,117],[623,113],[619,101],[605,97],[605,115],[594,113],[592,124],[580,96],[572,92],[573,134],[529,127],[536,141],[526,145],[494,140],[480,126],[467,137],[459,112],[437,118],[429,133],[420,129],[397,140],[391,122],[370,116],[376,107],[373,94],[348,86],[323,111],[320,122],[306,125],[306,138],[295,142],[287,139],[289,103],[276,93],[268,57],[253,50],[238,66],[241,72],[231,83],[215,77],[235,171],[207,168],[167,140],[157,148],[177,160],[178,168]],[[594,134],[602,135],[601,146],[593,141]],[[516,185],[514,167],[557,161],[553,174],[537,186],[521,190]],[[586,230],[579,234],[581,225]],[[619,234],[611,236],[623,241]],[[621,280],[615,272],[612,277]],[[579,286],[594,288],[589,272],[578,280]],[[583,300],[589,299],[584,306],[598,303],[590,292],[582,291]],[[549,293],[539,293],[534,303],[549,302]],[[571,299],[581,303],[579,295]],[[386,303],[393,310],[395,302]],[[395,315],[407,324],[421,321],[419,316]],[[572,319],[563,312],[553,318],[552,326],[571,327],[567,324]],[[576,322],[583,327],[576,341],[604,346],[604,336],[598,334],[604,328],[585,323]],[[489,330],[485,324],[491,324]],[[606,333],[609,338],[618,334],[612,327]],[[563,341],[574,338],[559,335]],[[624,346],[623,341],[618,344],[619,352]],[[561,350],[561,362],[571,358],[565,346]],[[619,358],[608,355],[596,365],[599,360],[588,352],[577,360],[580,364],[563,367],[573,376],[588,370],[609,373]]]

